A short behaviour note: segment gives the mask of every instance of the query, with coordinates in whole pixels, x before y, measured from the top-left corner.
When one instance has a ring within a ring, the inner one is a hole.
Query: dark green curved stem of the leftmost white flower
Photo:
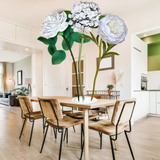
[[[75,59],[74,59],[74,56],[73,56],[73,52],[72,52],[72,50],[71,50],[71,47],[70,47],[70,45],[69,45],[66,37],[63,36],[63,38],[64,38],[64,40],[66,41],[66,44],[67,44],[67,46],[68,46],[68,48],[69,48],[69,51],[70,51],[70,53],[71,53],[71,56],[72,56],[72,60],[73,60],[73,64],[74,64],[74,69],[75,69],[75,73],[76,73],[76,88],[77,88],[77,96],[78,96],[78,101],[79,101],[78,74],[77,74],[76,62],[75,62]]]

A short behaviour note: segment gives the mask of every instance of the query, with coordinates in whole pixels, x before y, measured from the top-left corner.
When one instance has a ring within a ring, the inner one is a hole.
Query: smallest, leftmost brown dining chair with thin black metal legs
[[[21,107],[21,118],[24,119],[19,139],[21,139],[23,129],[24,129],[26,120],[28,118],[29,121],[32,122],[32,129],[31,129],[30,140],[29,140],[29,146],[30,146],[31,140],[32,140],[33,128],[34,128],[34,122],[37,119],[43,118],[43,130],[44,130],[44,117],[41,111],[36,111],[36,112],[33,111],[33,107],[28,96],[18,96],[18,100]]]

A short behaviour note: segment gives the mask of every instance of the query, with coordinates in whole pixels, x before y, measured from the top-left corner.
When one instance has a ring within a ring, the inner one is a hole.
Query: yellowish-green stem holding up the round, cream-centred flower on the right
[[[96,79],[97,79],[97,75],[98,75],[98,71],[99,71],[99,67],[100,67],[100,63],[101,63],[101,51],[102,51],[102,39],[100,41],[100,45],[99,45],[99,61],[98,61],[98,66],[97,66],[97,71],[94,77],[94,82],[93,82],[93,91],[92,91],[92,97],[91,97],[91,101],[94,97],[94,91],[95,91],[95,85],[96,85]]]

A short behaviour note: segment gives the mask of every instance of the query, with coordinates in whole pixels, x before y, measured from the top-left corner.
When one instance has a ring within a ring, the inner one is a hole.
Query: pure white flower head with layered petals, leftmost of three
[[[48,38],[55,37],[58,32],[63,32],[68,27],[67,15],[65,12],[54,13],[53,15],[46,16],[42,24],[41,34]]]

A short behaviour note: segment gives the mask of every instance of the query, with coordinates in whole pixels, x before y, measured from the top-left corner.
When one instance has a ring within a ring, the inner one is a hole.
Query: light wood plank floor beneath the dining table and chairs
[[[31,123],[28,121],[25,134],[19,140],[22,126],[19,107],[0,105],[0,160],[57,160],[60,146],[60,134],[55,140],[49,128],[43,152],[42,120],[35,121],[31,146],[28,146]],[[69,143],[63,142],[62,160],[78,160],[80,157],[80,126],[76,133],[69,128]],[[89,131],[90,160],[112,160],[109,137],[103,135],[103,148],[97,132]],[[132,127],[129,139],[136,160],[160,160],[160,118],[147,117]],[[119,136],[119,151],[115,151],[116,160],[131,160],[124,134]]]

